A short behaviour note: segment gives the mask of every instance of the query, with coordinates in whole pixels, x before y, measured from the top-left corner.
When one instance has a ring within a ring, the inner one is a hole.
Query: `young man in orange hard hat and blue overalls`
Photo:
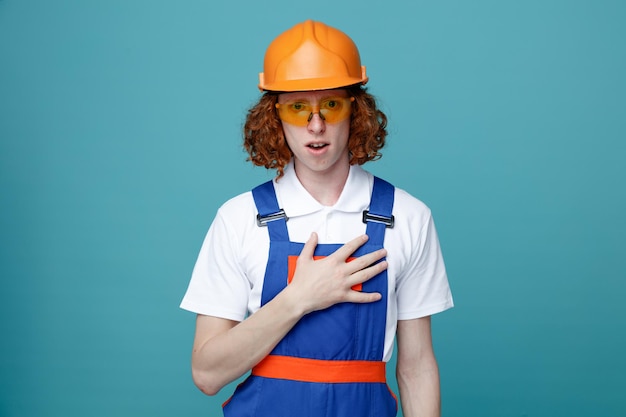
[[[395,416],[395,335],[404,416],[440,414],[430,316],[452,297],[430,210],[360,167],[387,122],[366,82],[352,40],[319,22],[266,52],[244,145],[277,178],[219,209],[181,305],[203,392],[252,371],[226,417]]]

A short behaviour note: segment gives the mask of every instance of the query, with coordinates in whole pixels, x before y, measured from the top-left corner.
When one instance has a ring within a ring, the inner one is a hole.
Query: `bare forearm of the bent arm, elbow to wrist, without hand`
[[[265,358],[302,316],[288,291],[283,291],[241,323],[194,343],[196,385],[205,394],[216,394]]]

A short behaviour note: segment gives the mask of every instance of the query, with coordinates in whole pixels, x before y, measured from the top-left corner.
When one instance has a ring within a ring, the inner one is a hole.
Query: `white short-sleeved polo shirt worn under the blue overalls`
[[[373,176],[358,165],[337,203],[323,206],[304,189],[293,164],[274,180],[279,206],[289,220],[291,241],[306,242],[317,232],[319,243],[345,243],[364,234],[362,212],[369,207]],[[269,253],[266,227],[256,223],[252,192],[219,208],[206,235],[181,308],[197,314],[241,321],[260,308]],[[395,225],[386,229],[388,306],[384,360],[393,351],[397,320],[439,313],[453,306],[435,225],[428,207],[396,188]]]

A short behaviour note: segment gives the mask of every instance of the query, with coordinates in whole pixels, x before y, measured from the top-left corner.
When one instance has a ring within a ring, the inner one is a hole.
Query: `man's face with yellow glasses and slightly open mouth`
[[[347,175],[351,101],[345,90],[304,91],[278,96],[279,113],[296,174]]]

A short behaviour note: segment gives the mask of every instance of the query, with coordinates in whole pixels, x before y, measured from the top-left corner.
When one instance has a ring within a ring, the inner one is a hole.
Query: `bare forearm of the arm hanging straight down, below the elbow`
[[[403,372],[398,369],[398,388],[404,417],[439,417],[441,394],[439,370],[434,358],[420,369]]]

